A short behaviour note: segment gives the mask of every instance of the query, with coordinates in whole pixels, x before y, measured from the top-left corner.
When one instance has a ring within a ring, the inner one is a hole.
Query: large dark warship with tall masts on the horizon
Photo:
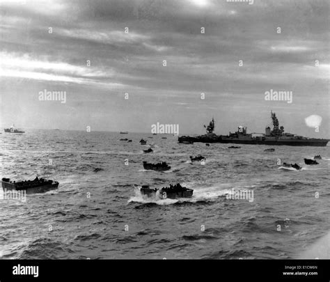
[[[253,145],[286,145],[286,146],[327,146],[329,139],[316,139],[299,136],[284,132],[284,127],[279,126],[276,113],[271,111],[273,129],[266,127],[265,134],[247,133],[247,127],[239,126],[237,132],[229,135],[214,134],[214,118],[206,127],[206,134],[200,136],[179,136],[179,143],[236,143],[236,144],[253,144]]]

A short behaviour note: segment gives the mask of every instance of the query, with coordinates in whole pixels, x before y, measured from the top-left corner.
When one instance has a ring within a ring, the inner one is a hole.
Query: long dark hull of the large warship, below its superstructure
[[[314,146],[325,147],[329,140],[327,139],[273,139],[273,140],[256,140],[256,139],[232,139],[207,136],[181,136],[178,139],[179,143],[191,141],[194,143],[233,143],[233,144],[249,144],[249,145],[269,145],[269,146]]]

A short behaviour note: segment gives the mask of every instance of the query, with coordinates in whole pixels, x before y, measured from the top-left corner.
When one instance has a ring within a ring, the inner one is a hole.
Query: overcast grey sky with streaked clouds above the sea
[[[214,116],[216,133],[264,132],[272,109],[285,131],[329,137],[329,0],[4,0],[0,10],[0,127],[159,122],[200,134]],[[40,101],[45,89],[66,102]],[[292,103],[266,101],[270,89],[292,91]],[[313,114],[319,133],[304,122]]]

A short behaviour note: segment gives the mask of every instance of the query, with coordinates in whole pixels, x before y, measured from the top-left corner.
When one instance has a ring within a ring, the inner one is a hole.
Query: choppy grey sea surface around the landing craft
[[[154,152],[143,153],[141,138]],[[329,232],[329,145],[228,146],[178,144],[170,134],[3,132],[1,178],[38,175],[60,185],[26,201],[0,195],[0,258],[298,258]],[[205,164],[191,164],[199,154]],[[320,164],[305,165],[314,155]],[[278,159],[303,169],[283,169]],[[145,171],[143,161],[168,162],[171,170]],[[194,196],[139,193],[141,185],[178,182]],[[253,191],[253,201],[228,198],[234,191]]]

